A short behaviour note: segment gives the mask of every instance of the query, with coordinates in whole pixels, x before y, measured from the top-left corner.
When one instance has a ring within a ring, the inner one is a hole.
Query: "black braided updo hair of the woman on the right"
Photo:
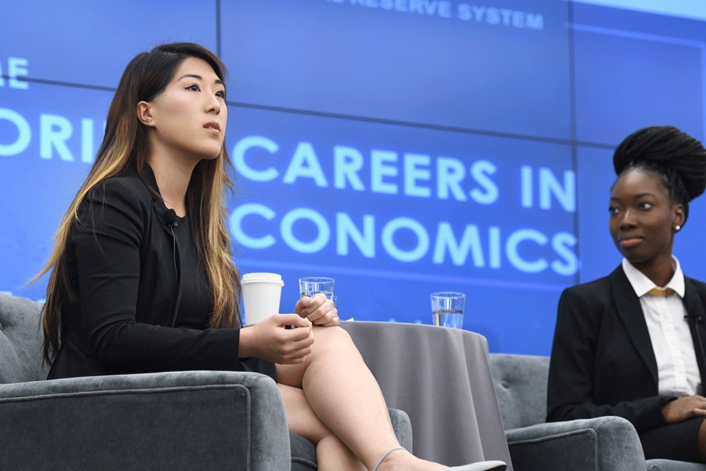
[[[706,149],[700,141],[674,126],[650,126],[626,137],[613,155],[620,177],[640,168],[656,172],[672,201],[684,207],[689,217],[689,201],[706,189]]]

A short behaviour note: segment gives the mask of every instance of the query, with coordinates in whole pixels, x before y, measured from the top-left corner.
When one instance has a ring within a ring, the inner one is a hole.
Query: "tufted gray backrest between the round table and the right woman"
[[[549,357],[491,353],[490,371],[505,430],[544,423]]]

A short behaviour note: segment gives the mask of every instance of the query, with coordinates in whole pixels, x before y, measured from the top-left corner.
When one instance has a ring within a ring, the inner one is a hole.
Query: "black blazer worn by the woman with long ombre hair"
[[[145,180],[157,182],[145,165]],[[175,328],[183,279],[167,208],[131,169],[98,184],[73,223],[66,271],[78,299],[61,307],[49,378],[247,369],[239,329]],[[59,268],[61,269],[61,268]]]

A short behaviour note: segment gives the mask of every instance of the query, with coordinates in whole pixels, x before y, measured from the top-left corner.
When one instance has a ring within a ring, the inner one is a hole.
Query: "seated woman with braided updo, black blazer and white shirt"
[[[706,284],[672,255],[689,201],[706,188],[706,150],[673,126],[615,151],[609,231],[623,262],[558,304],[547,420],[616,415],[645,458],[706,462]]]

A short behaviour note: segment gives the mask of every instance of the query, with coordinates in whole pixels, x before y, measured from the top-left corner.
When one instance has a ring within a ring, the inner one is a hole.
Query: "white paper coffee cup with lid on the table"
[[[282,275],[278,273],[245,273],[240,279],[243,290],[245,323],[254,324],[280,312]]]

